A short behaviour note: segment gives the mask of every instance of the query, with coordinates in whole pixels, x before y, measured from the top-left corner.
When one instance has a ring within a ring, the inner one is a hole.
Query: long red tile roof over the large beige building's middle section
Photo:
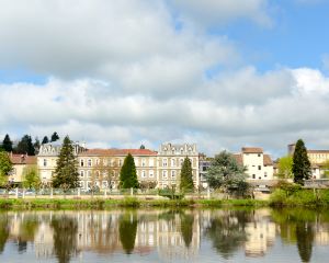
[[[89,149],[79,156],[157,156],[157,151],[149,149]]]

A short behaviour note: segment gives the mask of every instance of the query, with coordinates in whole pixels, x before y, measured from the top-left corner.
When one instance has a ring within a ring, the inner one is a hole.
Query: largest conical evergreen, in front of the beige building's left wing
[[[68,136],[65,137],[57,159],[53,186],[65,191],[79,186],[78,161],[73,153],[73,146]]]

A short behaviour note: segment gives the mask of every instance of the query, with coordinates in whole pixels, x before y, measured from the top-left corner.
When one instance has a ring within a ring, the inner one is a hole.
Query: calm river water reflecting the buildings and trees
[[[0,213],[0,262],[329,262],[329,211]]]

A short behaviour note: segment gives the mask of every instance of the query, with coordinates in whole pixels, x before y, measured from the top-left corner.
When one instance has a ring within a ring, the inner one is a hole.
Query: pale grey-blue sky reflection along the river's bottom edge
[[[136,252],[136,251],[134,251]],[[263,256],[248,258],[245,254],[245,247],[241,244],[234,255],[224,259],[218,254],[213,248],[213,242],[205,236],[201,235],[201,243],[198,252],[194,258],[189,260],[178,260],[172,262],[300,262],[300,258],[297,250],[296,243],[283,243],[280,233],[276,233],[274,244],[266,250]],[[311,262],[328,262],[329,256],[328,245],[318,245],[313,243]],[[27,242],[26,251],[18,252],[18,243],[14,241],[8,241],[4,251],[0,254],[0,262],[5,263],[20,263],[20,262],[57,262],[55,256],[49,259],[35,259],[34,245]],[[72,258],[70,262],[169,262],[168,259],[161,259],[158,254],[156,248],[149,253],[140,255],[138,253],[133,253],[129,255],[122,254],[120,251],[113,254],[98,254],[90,251],[81,251],[76,258]]]

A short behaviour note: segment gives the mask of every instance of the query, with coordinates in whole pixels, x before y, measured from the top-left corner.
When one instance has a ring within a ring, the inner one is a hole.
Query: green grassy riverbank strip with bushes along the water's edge
[[[149,199],[140,197],[123,198],[0,198],[2,209],[106,209],[113,207],[329,207],[329,190],[275,190],[269,201],[260,199]]]

